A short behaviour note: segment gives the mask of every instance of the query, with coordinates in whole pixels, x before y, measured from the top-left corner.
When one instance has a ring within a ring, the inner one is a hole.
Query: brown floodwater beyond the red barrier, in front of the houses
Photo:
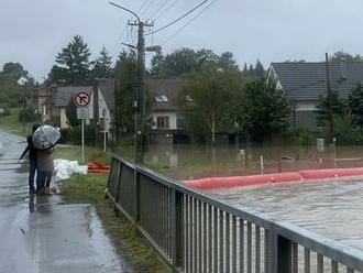
[[[134,159],[134,150],[114,150],[128,160]],[[261,155],[263,172],[289,172],[331,167],[363,166],[363,146],[326,148],[294,145],[151,145],[145,162],[152,167],[177,179],[209,176],[260,174]]]

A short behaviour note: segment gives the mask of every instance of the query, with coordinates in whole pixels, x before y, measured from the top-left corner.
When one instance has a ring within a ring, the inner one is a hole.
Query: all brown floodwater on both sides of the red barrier
[[[244,157],[240,156],[240,150],[244,150]],[[128,155],[132,157],[132,151]],[[323,152],[316,146],[288,145],[151,146],[145,161],[167,166],[158,170],[167,176],[187,179],[260,174],[260,155],[264,156],[265,173],[363,166],[363,146],[326,148]],[[209,193],[363,250],[363,177]]]

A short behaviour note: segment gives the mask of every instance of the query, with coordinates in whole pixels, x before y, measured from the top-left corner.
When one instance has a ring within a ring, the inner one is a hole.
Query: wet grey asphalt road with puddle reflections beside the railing
[[[90,205],[31,196],[16,159],[23,138],[0,131],[0,272],[131,272]]]

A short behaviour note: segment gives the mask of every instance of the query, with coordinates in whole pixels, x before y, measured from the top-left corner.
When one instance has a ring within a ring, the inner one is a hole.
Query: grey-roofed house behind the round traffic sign
[[[101,124],[102,129],[109,131],[116,108],[113,79],[99,79],[95,85],[85,86],[41,87],[37,90],[37,100],[42,121],[52,120],[62,129],[68,128],[66,110],[78,92],[85,92],[90,97],[89,120],[95,120]]]

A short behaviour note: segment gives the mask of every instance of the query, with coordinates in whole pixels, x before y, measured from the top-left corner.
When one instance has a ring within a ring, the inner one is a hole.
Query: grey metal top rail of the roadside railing
[[[227,214],[239,217],[240,219],[246,220],[248,222],[252,222],[256,226],[263,227],[266,230],[273,229],[274,233],[279,234],[287,240],[298,243],[307,249],[310,249],[318,254],[321,254],[323,256],[332,259],[333,261],[344,264],[349,269],[363,271],[363,251],[318,236],[314,232],[296,227],[294,225],[278,221],[275,218],[266,216],[254,209],[240,205],[232,205],[224,200],[220,200],[217,197],[208,196],[197,189],[185,186],[180,184],[180,182],[166,177],[155,171],[148,170],[140,165],[133,165],[118,155],[113,155],[113,157],[120,161],[122,164],[134,170],[135,172],[139,172],[147,178],[154,182],[158,182],[166,187],[174,188],[176,192],[195,198],[198,201],[206,203],[209,206],[213,206],[221,211],[226,211]]]

